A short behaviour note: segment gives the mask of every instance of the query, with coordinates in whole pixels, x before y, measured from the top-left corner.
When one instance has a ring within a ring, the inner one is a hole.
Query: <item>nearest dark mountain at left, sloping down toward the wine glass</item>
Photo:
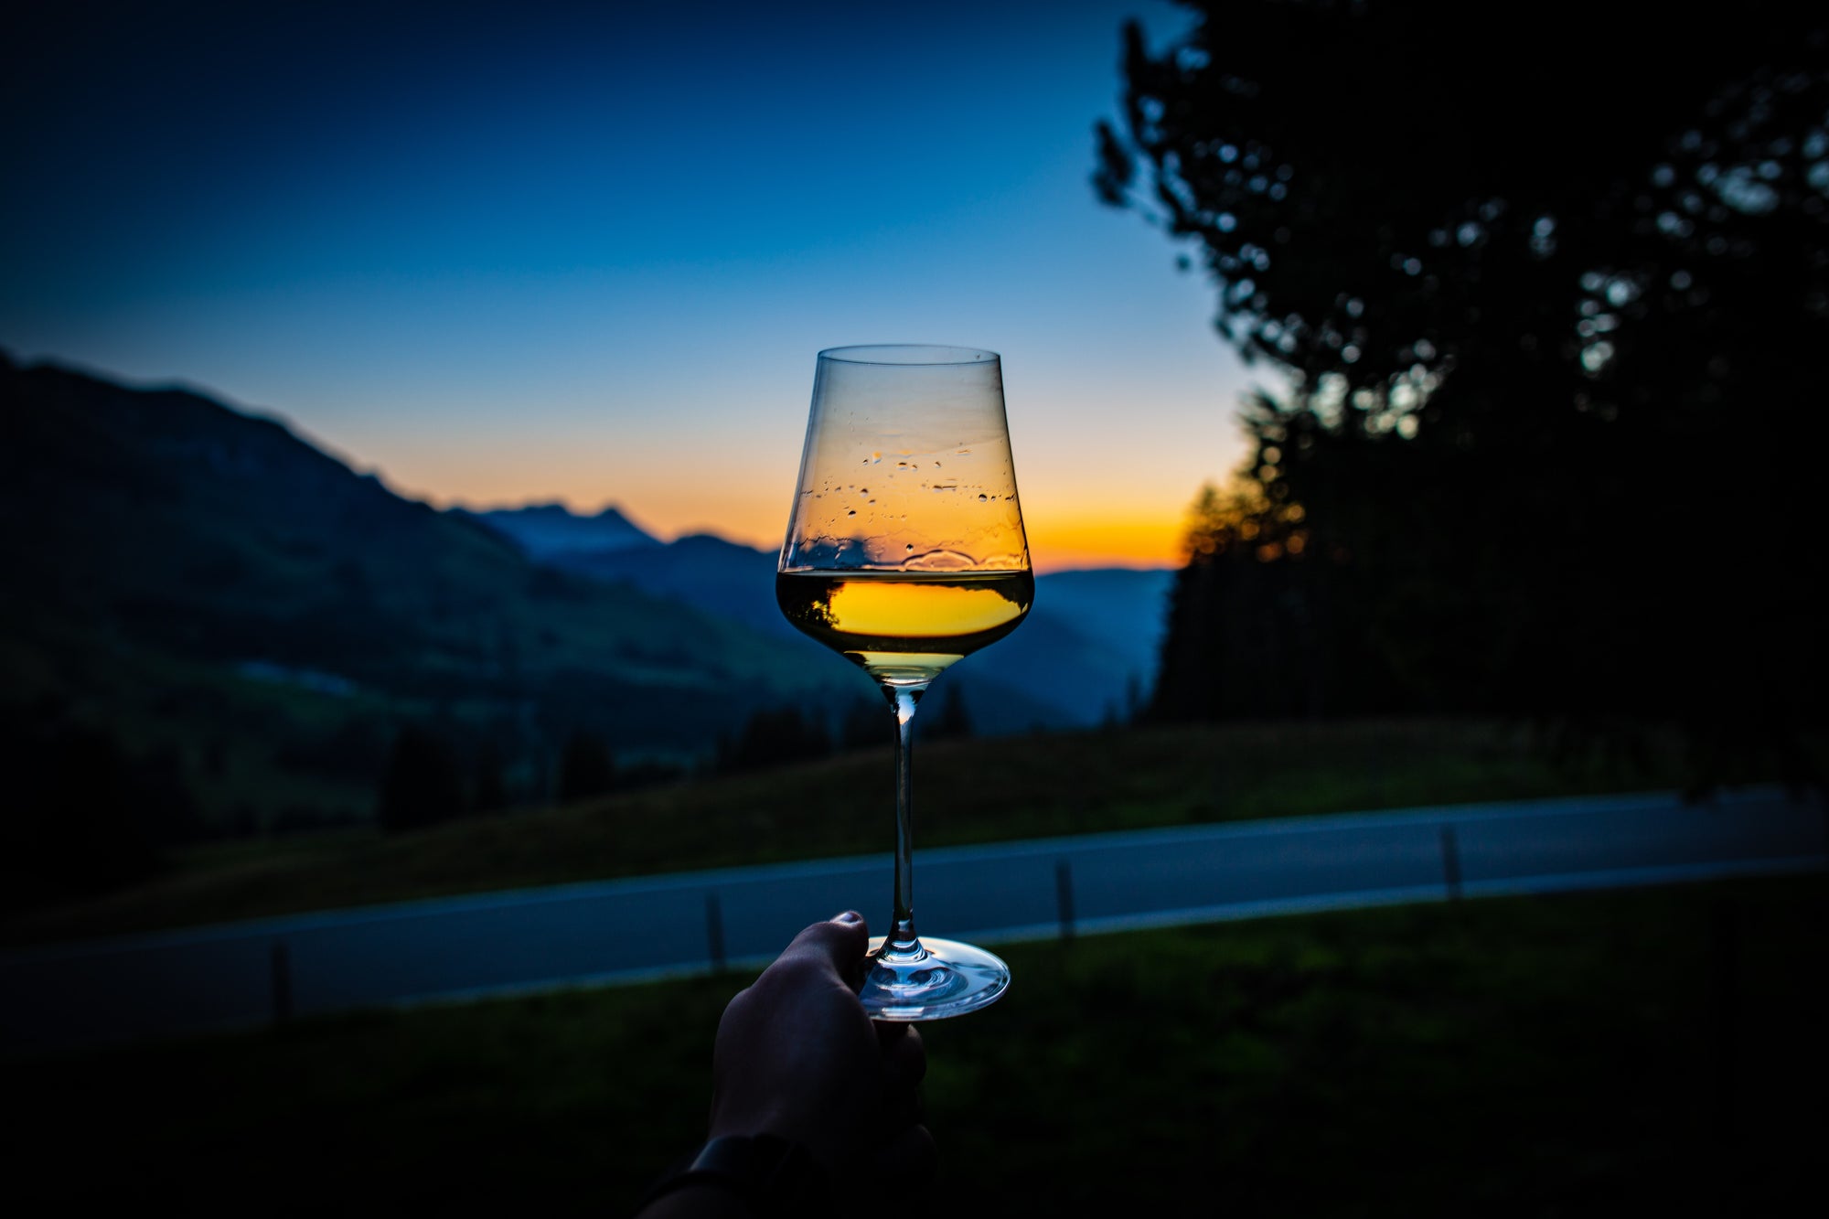
[[[188,390],[0,357],[0,712],[170,758],[223,793],[214,816],[371,807],[408,721],[494,750],[538,793],[580,728],[706,756],[759,707],[852,688]]]

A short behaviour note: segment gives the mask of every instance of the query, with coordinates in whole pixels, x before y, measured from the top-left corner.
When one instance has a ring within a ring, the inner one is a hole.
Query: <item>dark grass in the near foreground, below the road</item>
[[[1814,1214],[1824,877],[1008,948],[924,1027],[913,1214]],[[626,1214],[741,977],[7,1065],[0,1190],[190,1214]],[[894,1214],[889,1199],[860,1214]]]

